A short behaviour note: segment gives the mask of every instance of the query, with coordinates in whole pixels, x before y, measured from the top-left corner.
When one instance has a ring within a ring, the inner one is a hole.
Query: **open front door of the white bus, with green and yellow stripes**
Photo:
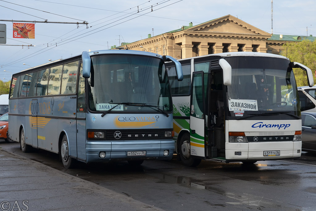
[[[193,72],[190,112],[190,150],[194,158],[205,159],[204,72]]]

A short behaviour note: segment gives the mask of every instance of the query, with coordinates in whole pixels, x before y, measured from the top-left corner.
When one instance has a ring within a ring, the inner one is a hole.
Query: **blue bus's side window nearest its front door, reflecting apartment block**
[[[79,61],[64,64],[61,94],[76,93],[76,82]]]

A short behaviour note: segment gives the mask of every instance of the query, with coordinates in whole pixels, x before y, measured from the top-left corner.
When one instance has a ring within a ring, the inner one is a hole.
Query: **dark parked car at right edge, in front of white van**
[[[302,112],[302,151],[316,152],[316,112]]]

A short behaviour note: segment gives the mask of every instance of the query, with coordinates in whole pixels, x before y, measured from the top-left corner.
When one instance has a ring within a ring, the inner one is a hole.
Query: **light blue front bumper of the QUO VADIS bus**
[[[174,151],[174,140],[154,141],[112,141],[112,142],[86,142],[86,162],[106,162],[111,160],[171,160]],[[168,155],[164,151],[168,150]],[[100,152],[105,157],[100,158]],[[145,152],[145,155],[128,156],[128,152]]]

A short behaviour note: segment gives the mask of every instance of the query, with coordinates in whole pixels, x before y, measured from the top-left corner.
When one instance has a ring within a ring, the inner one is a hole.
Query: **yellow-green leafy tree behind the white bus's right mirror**
[[[307,39],[301,42],[291,42],[283,45],[282,56],[288,57],[291,61],[299,62],[308,68],[316,71],[316,41]],[[297,86],[308,86],[306,72],[300,68],[294,68],[294,75]],[[316,82],[314,77],[314,84]]]

